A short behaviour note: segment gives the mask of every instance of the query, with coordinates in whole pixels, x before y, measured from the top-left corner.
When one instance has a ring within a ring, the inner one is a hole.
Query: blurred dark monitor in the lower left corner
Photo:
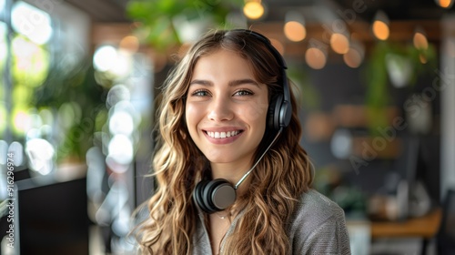
[[[88,254],[86,179],[17,186],[21,254]]]

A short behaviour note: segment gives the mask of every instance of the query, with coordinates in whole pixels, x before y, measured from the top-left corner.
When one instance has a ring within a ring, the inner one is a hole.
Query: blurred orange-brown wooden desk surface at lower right
[[[440,228],[441,209],[433,209],[427,215],[404,221],[371,222],[371,237],[422,237],[430,239]]]

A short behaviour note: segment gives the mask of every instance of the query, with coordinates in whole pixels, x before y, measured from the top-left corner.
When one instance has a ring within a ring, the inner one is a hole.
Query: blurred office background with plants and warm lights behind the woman
[[[353,254],[454,254],[453,2],[0,0],[1,254],[133,254],[158,87],[238,27],[285,56]]]

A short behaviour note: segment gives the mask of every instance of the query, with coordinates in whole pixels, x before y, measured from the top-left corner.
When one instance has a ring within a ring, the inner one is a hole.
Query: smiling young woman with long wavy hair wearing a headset
[[[349,254],[343,210],[311,189],[286,64],[249,30],[195,43],[162,91],[146,254]]]

